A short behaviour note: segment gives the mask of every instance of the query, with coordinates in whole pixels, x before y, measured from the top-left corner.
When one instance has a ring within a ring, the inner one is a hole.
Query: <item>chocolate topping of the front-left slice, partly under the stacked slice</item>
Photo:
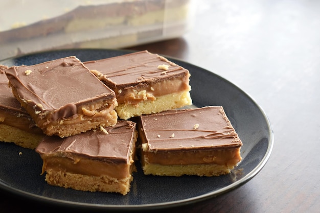
[[[135,125],[131,121],[119,121],[116,126],[105,127],[107,133],[92,130],[65,138],[45,136],[36,152],[40,155],[68,157],[75,162],[78,158],[89,158],[129,163]]]

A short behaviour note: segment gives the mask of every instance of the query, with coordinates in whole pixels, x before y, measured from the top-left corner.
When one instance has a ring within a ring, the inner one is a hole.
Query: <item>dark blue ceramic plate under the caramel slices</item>
[[[31,65],[66,56],[89,61],[127,53],[120,50],[65,50],[7,59],[0,64]],[[134,173],[131,190],[126,196],[90,193],[47,184],[44,175],[40,175],[42,160],[37,153],[14,144],[0,143],[0,188],[41,203],[60,206],[90,210],[143,210],[199,202],[234,190],[252,179],[264,167],[273,146],[272,129],[264,111],[231,82],[187,62],[169,60],[189,69],[191,97],[196,107],[224,107],[243,142],[243,160],[234,171],[220,177],[157,177],[143,175],[138,165],[138,172]]]

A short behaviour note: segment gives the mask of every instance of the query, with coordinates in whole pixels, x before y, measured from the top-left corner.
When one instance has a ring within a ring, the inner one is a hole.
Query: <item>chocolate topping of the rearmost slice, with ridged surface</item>
[[[143,86],[177,76],[189,77],[187,69],[148,51],[87,61],[84,65],[90,70],[97,70],[100,80],[112,89]]]

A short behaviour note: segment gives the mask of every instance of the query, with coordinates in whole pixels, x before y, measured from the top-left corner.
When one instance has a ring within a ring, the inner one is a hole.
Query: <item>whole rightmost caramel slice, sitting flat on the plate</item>
[[[144,174],[219,176],[240,161],[242,142],[220,106],[141,115]]]

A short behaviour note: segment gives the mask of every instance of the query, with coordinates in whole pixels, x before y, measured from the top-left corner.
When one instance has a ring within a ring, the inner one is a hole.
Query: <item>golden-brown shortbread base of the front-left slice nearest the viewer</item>
[[[132,175],[123,179],[112,178],[107,175],[89,176],[70,172],[48,170],[45,181],[50,185],[73,188],[89,192],[115,192],[126,195],[130,191]]]

